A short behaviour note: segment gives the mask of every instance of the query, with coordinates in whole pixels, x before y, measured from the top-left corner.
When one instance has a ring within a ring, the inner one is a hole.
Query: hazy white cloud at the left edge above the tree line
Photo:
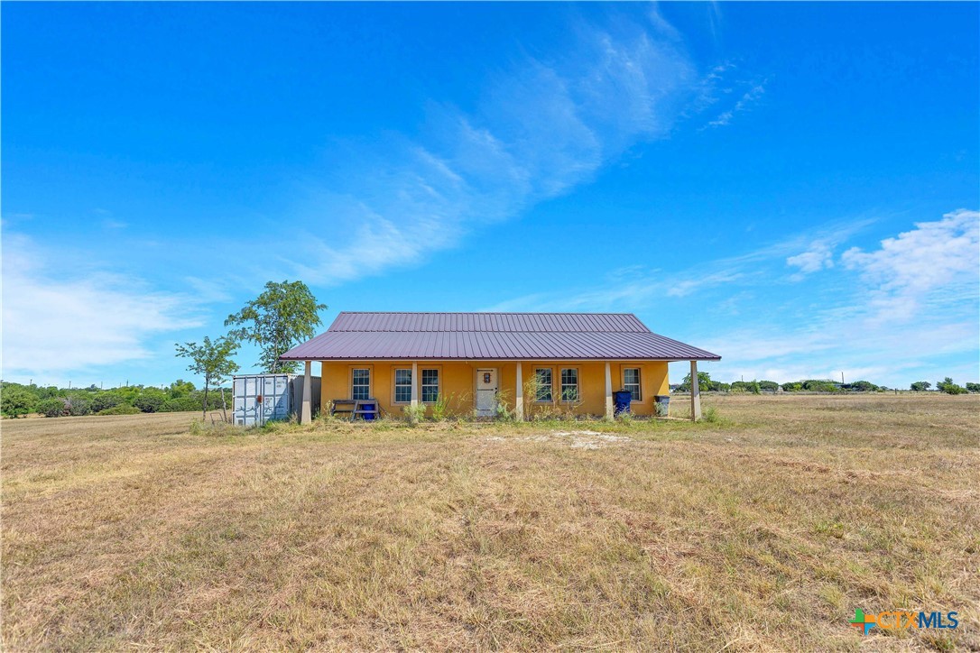
[[[3,245],[5,378],[53,381],[72,370],[146,358],[151,336],[200,324],[196,298],[97,270],[55,277],[27,237],[5,233]]]

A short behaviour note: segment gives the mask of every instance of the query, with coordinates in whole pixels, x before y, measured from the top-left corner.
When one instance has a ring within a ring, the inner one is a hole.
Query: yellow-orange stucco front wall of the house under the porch
[[[577,406],[562,403],[537,404],[524,397],[527,410],[533,414],[537,410],[570,408],[576,414],[603,415],[606,412],[606,363],[599,361],[522,361],[521,372],[524,383],[533,378],[534,370],[540,367],[550,367],[554,380],[554,396],[561,395],[561,370],[567,367],[578,368],[578,388],[581,402]],[[372,362],[329,362],[320,363],[321,406],[329,405],[333,399],[351,397],[351,377],[355,368],[369,369],[371,397],[377,399],[385,413],[392,416],[402,414],[402,406],[407,404],[395,403],[394,378],[396,368],[412,367],[411,360],[404,361],[372,361]],[[622,387],[623,368],[639,367],[642,400],[634,401],[630,407],[637,415],[653,414],[655,395],[667,395],[667,363],[666,361],[613,361],[610,363],[613,392]],[[516,373],[515,362],[481,362],[481,361],[444,361],[418,362],[418,375],[413,381],[417,384],[418,400],[421,401],[421,370],[435,368],[439,370],[440,393],[450,397],[450,413],[468,416],[473,411],[473,398],[476,391],[476,370],[496,368],[499,375],[501,396],[510,408],[515,405]],[[431,413],[431,409],[429,409]]]

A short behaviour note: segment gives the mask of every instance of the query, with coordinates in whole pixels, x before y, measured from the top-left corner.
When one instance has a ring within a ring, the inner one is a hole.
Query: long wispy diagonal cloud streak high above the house
[[[665,137],[703,92],[679,35],[656,12],[648,24],[570,32],[563,52],[491,73],[471,109],[432,102],[411,138],[388,135],[381,151],[338,147],[344,169],[307,182],[294,220],[302,256],[281,263],[318,284],[415,263],[587,182],[637,142]]]

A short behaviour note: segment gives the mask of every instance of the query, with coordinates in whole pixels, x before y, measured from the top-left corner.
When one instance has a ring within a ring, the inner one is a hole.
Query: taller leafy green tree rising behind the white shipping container
[[[262,295],[228,315],[224,326],[237,327],[229,336],[259,346],[259,364],[267,372],[295,372],[298,363],[279,356],[317,335],[318,311],[325,308],[302,281],[270,281]]]

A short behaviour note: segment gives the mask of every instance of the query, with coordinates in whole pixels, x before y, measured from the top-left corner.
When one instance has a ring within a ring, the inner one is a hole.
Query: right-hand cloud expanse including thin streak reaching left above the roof
[[[744,375],[785,382],[839,378],[843,371],[852,381],[866,377],[891,385],[955,372],[972,380],[980,373],[978,221],[977,211],[956,210],[918,222],[878,248],[852,248],[837,264],[834,250],[873,223],[848,219],[690,270],[641,272],[630,283],[537,293],[488,309],[642,314],[673,300],[674,310],[696,309],[688,337],[723,356],[710,370],[720,379]],[[799,272],[781,274],[787,264]],[[817,271],[823,274],[805,290],[784,283],[780,294],[781,280],[803,282]],[[715,302],[711,314],[737,313],[739,319],[720,324],[694,318],[706,314],[701,295],[709,292]],[[761,311],[755,303],[760,297]]]

